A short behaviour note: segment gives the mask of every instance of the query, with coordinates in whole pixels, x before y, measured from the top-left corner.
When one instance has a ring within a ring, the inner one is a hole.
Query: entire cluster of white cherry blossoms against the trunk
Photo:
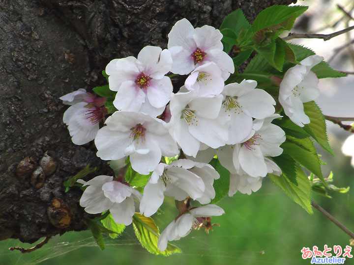
[[[225,81],[234,73],[232,58],[223,52],[222,34],[210,26],[194,28],[186,19],[168,34],[168,49],[146,46],[137,58],[112,60],[106,67],[109,88],[116,91],[118,111],[107,119],[105,98],[85,90],[60,99],[71,105],[64,113],[72,141],[82,145],[94,139],[97,156],[124,168],[129,157],[133,170],[151,172],[143,194],[112,176],[97,176],[88,182],[80,205],[89,213],[109,210],[115,222],[129,225],[136,207],[150,216],[165,196],[177,201],[191,198],[204,206],[180,210],[159,238],[159,248],[168,240],[186,236],[198,218],[221,215],[209,204],[215,197],[214,180],[219,174],[208,164],[216,155],[230,173],[232,196],[236,191],[257,191],[266,174],[280,175],[271,157],[282,154],[285,132],[272,124],[275,100],[254,80]],[[297,125],[309,123],[303,102],[318,96],[318,79],[310,71],[322,57],[310,56],[289,69],[280,83],[279,102]],[[173,93],[167,74],[188,75]],[[306,89],[304,89],[304,87]],[[103,120],[105,126],[99,128]],[[170,164],[161,157],[179,159]]]

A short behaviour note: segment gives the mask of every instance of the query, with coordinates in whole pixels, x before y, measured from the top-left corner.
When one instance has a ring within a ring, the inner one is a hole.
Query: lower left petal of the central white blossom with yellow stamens
[[[174,126],[170,129],[170,133],[182,148],[184,154],[192,157],[197,155],[200,141],[188,131],[188,125],[184,119],[177,118]]]

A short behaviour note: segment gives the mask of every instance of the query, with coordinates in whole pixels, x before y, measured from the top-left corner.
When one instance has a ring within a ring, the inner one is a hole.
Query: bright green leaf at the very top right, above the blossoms
[[[285,22],[285,23],[283,25],[281,25],[281,27],[284,27],[284,29],[290,30],[293,27],[292,24],[294,23],[295,18],[297,18],[303,12],[305,12],[307,10],[307,8],[308,8],[307,6],[300,6],[300,5],[295,5],[295,6],[273,5],[273,6],[270,6],[258,14],[258,16],[256,17],[256,19],[253,22],[252,30],[253,30],[253,32],[257,32],[260,29],[279,25],[282,22]],[[288,19],[291,19],[290,23],[289,23],[289,21],[286,21]]]

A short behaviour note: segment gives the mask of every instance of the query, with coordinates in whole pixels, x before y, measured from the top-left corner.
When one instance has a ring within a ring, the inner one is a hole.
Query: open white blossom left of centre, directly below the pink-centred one
[[[153,171],[161,155],[176,156],[176,141],[165,122],[141,112],[116,111],[96,135],[97,156],[116,160],[129,156],[132,168],[143,175]]]

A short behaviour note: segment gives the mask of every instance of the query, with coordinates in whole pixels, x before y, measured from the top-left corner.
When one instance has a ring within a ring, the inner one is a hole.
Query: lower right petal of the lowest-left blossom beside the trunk
[[[115,203],[110,207],[113,220],[117,224],[130,225],[133,221],[133,215],[135,212],[134,199],[132,197],[126,198],[121,203]]]

